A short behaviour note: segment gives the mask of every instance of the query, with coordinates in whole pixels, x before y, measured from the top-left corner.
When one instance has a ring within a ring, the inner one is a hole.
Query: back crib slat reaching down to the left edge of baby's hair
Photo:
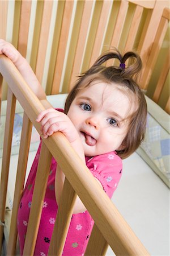
[[[76,51],[75,51],[75,57],[74,57],[73,69],[72,69],[72,73],[71,73],[69,90],[73,87],[74,82],[76,80],[76,76],[78,76],[81,73],[80,68],[81,68],[81,64],[82,64],[82,57],[83,57],[84,47],[85,47],[85,43],[86,43],[88,26],[89,26],[89,22],[90,22],[90,16],[91,16],[91,12],[92,12],[93,3],[94,3],[93,1],[85,1],[85,3],[84,3],[82,22],[80,24],[79,37],[78,37],[78,43],[77,43]]]

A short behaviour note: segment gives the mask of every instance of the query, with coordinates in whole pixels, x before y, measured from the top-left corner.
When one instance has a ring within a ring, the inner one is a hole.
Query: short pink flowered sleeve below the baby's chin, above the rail
[[[86,162],[92,175],[103,185],[111,198],[122,175],[122,160],[115,152],[94,156]]]

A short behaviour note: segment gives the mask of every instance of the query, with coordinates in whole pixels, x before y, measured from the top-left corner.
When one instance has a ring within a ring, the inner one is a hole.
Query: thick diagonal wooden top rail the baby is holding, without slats
[[[12,61],[3,55],[0,56],[0,72],[28,118],[40,133],[40,124],[35,121],[37,114],[50,104],[48,101],[40,102],[38,100]],[[65,136],[57,132],[48,139],[42,138],[42,141],[57,160],[67,180],[73,186],[114,253],[116,255],[149,255]]]

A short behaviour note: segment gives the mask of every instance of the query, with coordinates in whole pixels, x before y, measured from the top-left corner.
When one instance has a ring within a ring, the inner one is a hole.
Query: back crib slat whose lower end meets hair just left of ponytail
[[[95,63],[96,59],[101,54],[101,46],[103,44],[104,34],[107,28],[108,16],[112,8],[112,4],[113,4],[112,1],[108,1],[108,0],[103,1],[103,6],[100,13],[99,24],[97,27],[95,42],[94,42],[93,51],[92,51],[91,60],[90,60],[90,67],[92,64]]]

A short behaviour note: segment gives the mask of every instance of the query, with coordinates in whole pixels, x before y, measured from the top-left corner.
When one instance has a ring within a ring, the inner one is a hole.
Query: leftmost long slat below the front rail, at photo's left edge
[[[0,221],[5,221],[5,204],[7,194],[8,172],[10,167],[10,154],[12,143],[12,131],[14,127],[16,98],[10,88],[7,94],[7,112],[5,123],[5,134],[3,142],[3,156],[2,156],[2,172],[1,172],[1,185],[0,185]],[[0,250],[2,246],[3,226],[0,225]]]

